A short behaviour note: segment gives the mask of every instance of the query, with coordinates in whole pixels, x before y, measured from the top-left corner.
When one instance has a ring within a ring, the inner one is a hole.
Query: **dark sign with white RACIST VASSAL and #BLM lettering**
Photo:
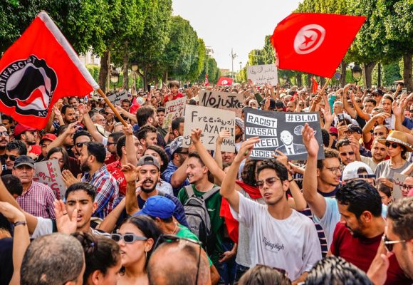
[[[245,110],[245,137],[259,137],[254,145],[251,158],[261,160],[272,158],[275,150],[283,152],[289,160],[307,160],[307,150],[303,145],[301,130],[305,123],[314,129],[315,138],[320,145],[317,158],[324,158],[323,138],[321,136],[318,113],[289,113]]]

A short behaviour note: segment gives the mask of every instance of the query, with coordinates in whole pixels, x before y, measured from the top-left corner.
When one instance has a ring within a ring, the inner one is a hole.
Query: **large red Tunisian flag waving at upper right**
[[[365,16],[296,13],[271,36],[278,68],[332,78]]]

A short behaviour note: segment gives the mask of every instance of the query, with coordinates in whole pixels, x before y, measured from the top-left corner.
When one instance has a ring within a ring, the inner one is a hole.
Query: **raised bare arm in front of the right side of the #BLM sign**
[[[303,178],[303,196],[315,216],[322,218],[325,214],[325,199],[317,192],[317,153],[318,142],[314,130],[308,124],[303,128],[303,143],[308,152],[307,165]]]

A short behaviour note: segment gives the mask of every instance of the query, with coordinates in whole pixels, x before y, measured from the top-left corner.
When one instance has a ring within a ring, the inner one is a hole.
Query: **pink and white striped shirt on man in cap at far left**
[[[56,199],[53,190],[40,182],[31,182],[26,192],[23,192],[16,201],[21,209],[36,217],[55,219],[53,201]]]

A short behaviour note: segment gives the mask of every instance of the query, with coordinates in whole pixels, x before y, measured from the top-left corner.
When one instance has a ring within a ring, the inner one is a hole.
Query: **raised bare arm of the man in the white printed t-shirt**
[[[229,167],[229,170],[224,177],[224,181],[222,181],[221,189],[219,190],[221,196],[228,200],[229,204],[236,212],[239,212],[239,194],[235,190],[236,174],[238,173],[241,162],[251,155],[253,145],[258,141],[259,138],[254,137],[242,142],[239,152],[236,155],[234,162],[232,162]]]

